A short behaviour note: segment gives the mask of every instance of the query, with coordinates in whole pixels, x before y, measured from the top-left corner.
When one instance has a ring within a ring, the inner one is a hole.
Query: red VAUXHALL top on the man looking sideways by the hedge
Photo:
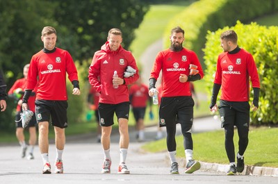
[[[218,56],[214,83],[221,85],[220,99],[249,101],[250,78],[253,87],[260,87],[253,56],[240,49],[238,53],[224,52]]]

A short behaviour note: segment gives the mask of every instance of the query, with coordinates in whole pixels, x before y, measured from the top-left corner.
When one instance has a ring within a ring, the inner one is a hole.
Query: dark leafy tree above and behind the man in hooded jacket
[[[58,3],[54,10],[56,21],[62,28],[67,28],[61,30],[64,33],[60,44],[80,61],[92,58],[106,42],[108,31],[114,27],[122,30],[123,44],[128,48],[134,39],[134,30],[149,8],[137,0],[51,1]]]

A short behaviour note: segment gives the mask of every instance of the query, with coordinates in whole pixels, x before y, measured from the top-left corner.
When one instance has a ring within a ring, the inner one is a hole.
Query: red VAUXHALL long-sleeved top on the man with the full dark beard
[[[204,72],[194,51],[183,48],[181,51],[166,49],[158,53],[150,78],[157,80],[162,69],[162,97],[191,96],[189,82],[181,83],[179,81],[180,74],[189,76],[190,64],[197,65],[199,75],[203,78]]]

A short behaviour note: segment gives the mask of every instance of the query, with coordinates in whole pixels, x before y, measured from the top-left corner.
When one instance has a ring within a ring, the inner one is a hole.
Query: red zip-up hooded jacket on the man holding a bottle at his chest
[[[129,78],[124,78],[126,68],[130,66],[136,69],[136,74]],[[125,84],[113,88],[113,74],[117,71],[120,78],[124,78]],[[130,51],[126,51],[120,46],[117,51],[111,51],[106,42],[101,50],[95,52],[92,64],[89,67],[89,82],[99,92],[100,103],[117,104],[129,101],[129,90],[127,85],[134,83],[139,78],[136,60]]]

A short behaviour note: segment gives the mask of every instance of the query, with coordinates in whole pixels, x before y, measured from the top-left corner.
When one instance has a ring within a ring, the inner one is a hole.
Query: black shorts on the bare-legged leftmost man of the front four
[[[67,101],[36,100],[35,116],[37,122],[49,122],[52,126],[67,128]]]

